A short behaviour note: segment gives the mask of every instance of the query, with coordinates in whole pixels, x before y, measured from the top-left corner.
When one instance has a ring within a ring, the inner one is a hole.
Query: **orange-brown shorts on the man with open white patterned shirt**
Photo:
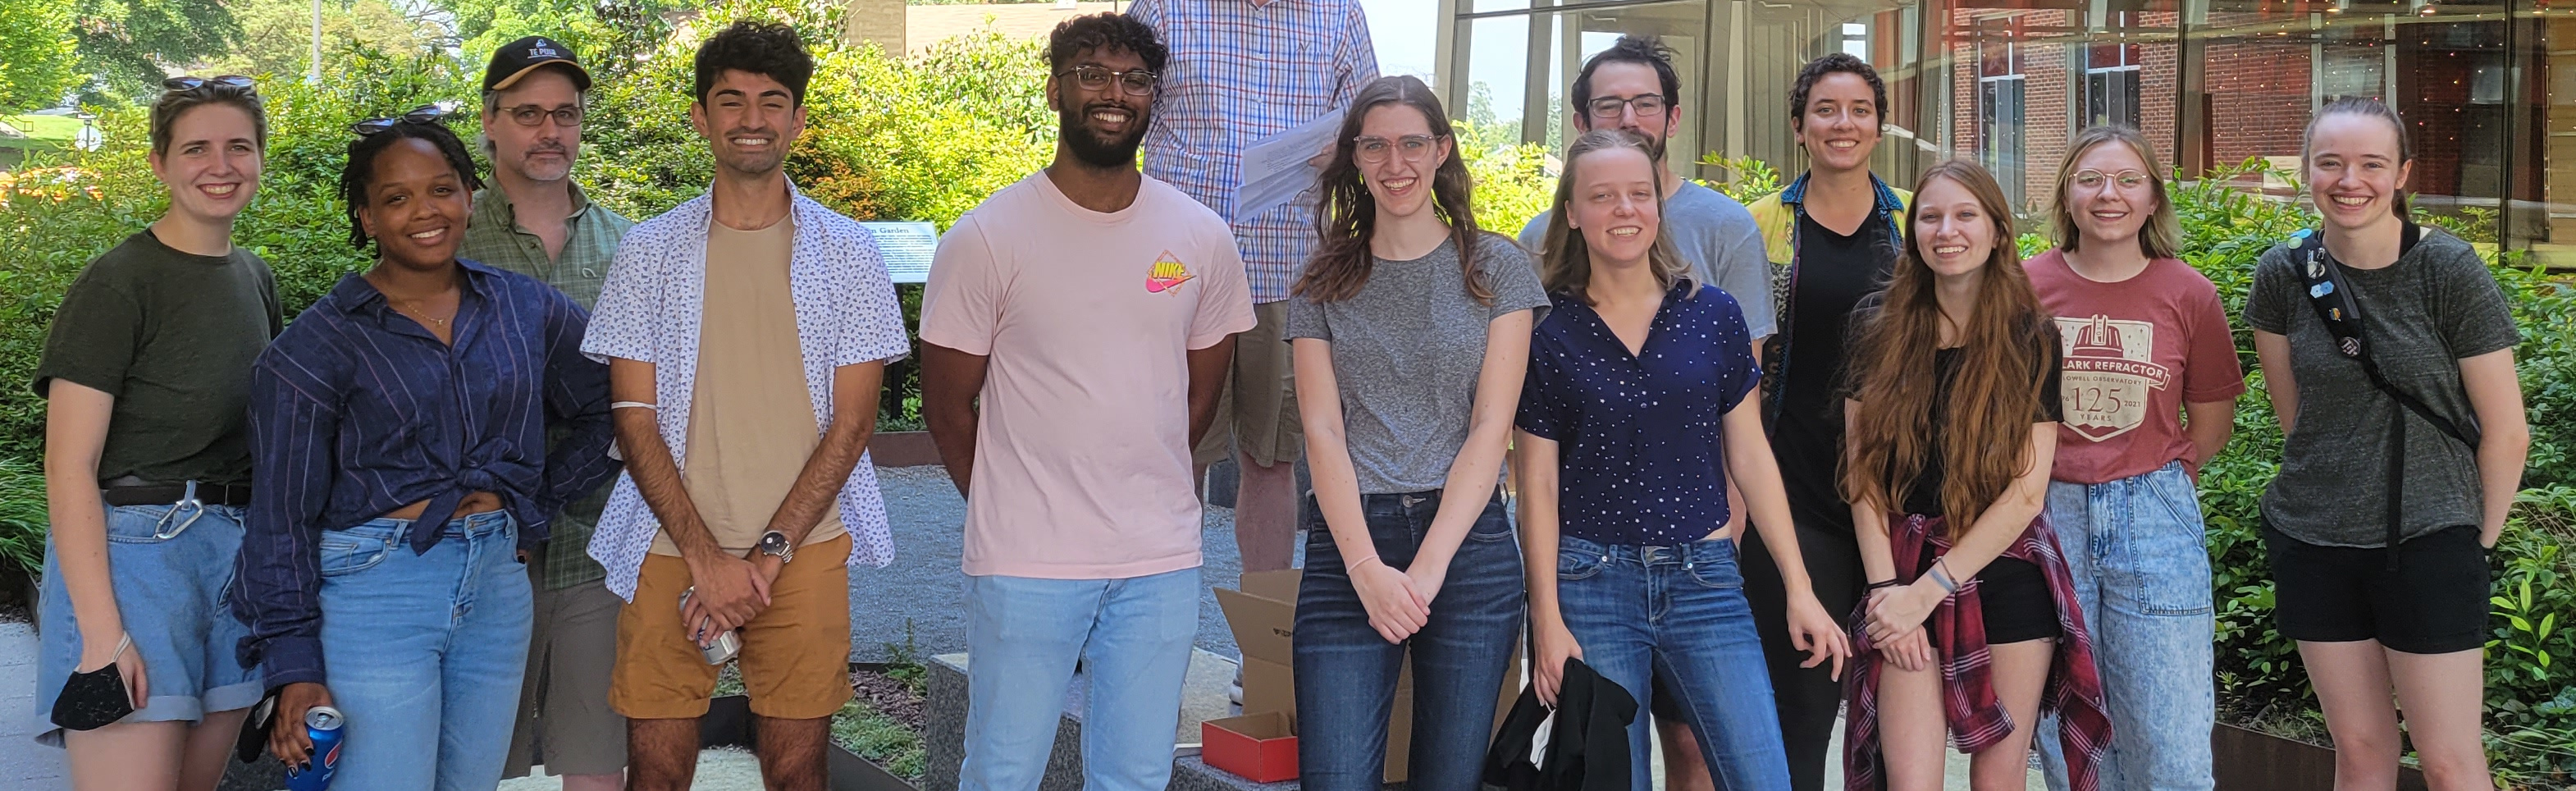
[[[829,526],[824,526],[829,528]],[[819,719],[850,688],[850,536],[796,549],[770,582],[770,605],[742,624],[742,688],[752,714]],[[618,611],[618,670],[608,706],[631,719],[696,719],[716,693],[716,670],[680,629],[688,562],[647,554],[636,598]]]

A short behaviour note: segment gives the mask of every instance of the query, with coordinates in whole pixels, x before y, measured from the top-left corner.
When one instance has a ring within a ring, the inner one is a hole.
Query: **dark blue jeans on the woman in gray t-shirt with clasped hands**
[[[1440,513],[1440,492],[1365,495],[1368,536],[1391,569],[1412,567]],[[1476,791],[1494,734],[1512,642],[1520,639],[1520,544],[1502,497],[1458,541],[1430,624],[1404,644],[1368,626],[1342,549],[1309,497],[1306,577],[1296,593],[1298,776],[1309,791],[1376,791],[1386,773],[1386,716],[1404,652],[1414,654],[1414,791]]]

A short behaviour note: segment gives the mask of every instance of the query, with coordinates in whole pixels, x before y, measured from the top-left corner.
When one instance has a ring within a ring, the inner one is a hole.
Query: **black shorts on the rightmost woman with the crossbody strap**
[[[2476,526],[2432,531],[2391,549],[2318,546],[2262,531],[2272,559],[2272,618],[2300,642],[2378,639],[2391,652],[2450,654],[2486,647],[2486,546]]]

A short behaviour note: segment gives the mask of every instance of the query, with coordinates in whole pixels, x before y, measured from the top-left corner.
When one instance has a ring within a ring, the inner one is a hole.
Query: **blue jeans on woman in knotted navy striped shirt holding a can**
[[[379,518],[322,533],[325,685],[348,714],[332,788],[492,791],[536,608],[518,520],[456,518],[422,554],[410,528]]]

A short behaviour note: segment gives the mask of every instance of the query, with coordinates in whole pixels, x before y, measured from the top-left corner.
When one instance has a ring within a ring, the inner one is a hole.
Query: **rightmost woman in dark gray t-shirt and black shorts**
[[[2530,448],[2522,335],[2476,247],[2406,222],[2411,165],[2403,121],[2378,100],[2334,100],[2308,124],[2321,242],[2264,253],[2246,294],[2287,435],[2262,497],[2264,549],[2277,629],[2298,642],[2344,755],[2336,786],[2396,783],[2403,711],[2434,788],[2491,788],[2478,729],[2486,549]],[[2349,307],[2326,307],[2357,327],[2360,358],[2339,340],[2352,330],[2311,304],[2336,291]]]

